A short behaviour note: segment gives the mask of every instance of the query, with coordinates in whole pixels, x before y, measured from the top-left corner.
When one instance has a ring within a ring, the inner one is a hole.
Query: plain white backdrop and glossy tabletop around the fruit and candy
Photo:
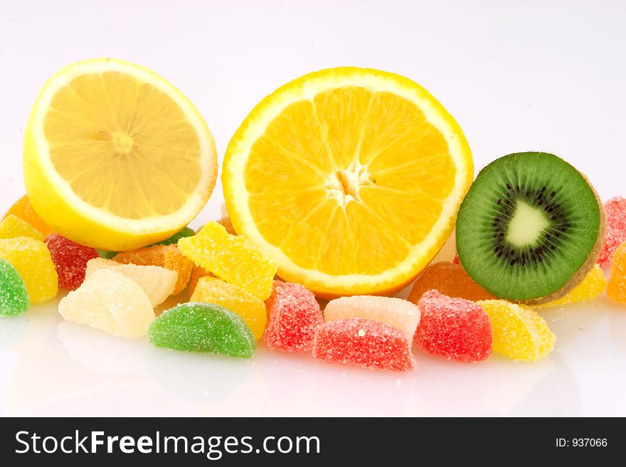
[[[174,82],[218,154],[284,82],[357,65],[406,75],[464,129],[477,170],[542,150],[624,188],[626,1],[0,0],[0,210],[23,194],[23,127],[56,70],[112,56]],[[217,186],[193,225],[219,215]],[[450,250],[447,250],[449,254]],[[536,364],[448,363],[410,374],[261,348],[251,361],[152,348],[63,323],[55,304],[0,321],[6,415],[626,415],[626,308],[543,313],[556,349]]]

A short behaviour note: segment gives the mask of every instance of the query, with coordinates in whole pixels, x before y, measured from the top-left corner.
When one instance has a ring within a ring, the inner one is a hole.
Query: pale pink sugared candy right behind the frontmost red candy
[[[355,295],[329,301],[324,308],[324,321],[344,318],[381,321],[413,338],[420,322],[420,310],[410,301],[388,296]]]

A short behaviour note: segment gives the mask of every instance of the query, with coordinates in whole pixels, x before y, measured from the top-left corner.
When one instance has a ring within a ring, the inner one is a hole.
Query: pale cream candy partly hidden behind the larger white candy
[[[112,259],[95,258],[87,263],[86,277],[99,269],[113,269],[124,274],[139,284],[144,290],[152,308],[162,304],[174,292],[178,274],[176,271],[159,266],[137,266],[137,264],[121,264]]]

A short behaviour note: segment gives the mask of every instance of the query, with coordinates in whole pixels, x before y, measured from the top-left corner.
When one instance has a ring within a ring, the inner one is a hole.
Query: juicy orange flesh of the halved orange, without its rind
[[[244,180],[261,235],[299,267],[376,275],[432,230],[455,173],[444,136],[413,102],[340,87],[272,120]]]

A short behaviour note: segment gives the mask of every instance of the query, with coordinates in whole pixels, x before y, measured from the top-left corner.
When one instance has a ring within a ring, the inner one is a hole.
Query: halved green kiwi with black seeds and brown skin
[[[583,174],[544,152],[509,154],[482,169],[457,217],[467,274],[526,304],[558,299],[598,260],[604,213]]]

